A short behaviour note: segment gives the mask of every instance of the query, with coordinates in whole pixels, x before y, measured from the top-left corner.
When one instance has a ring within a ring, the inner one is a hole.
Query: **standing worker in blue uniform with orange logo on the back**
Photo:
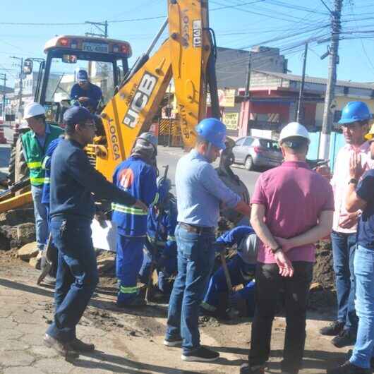
[[[157,138],[143,133],[136,140],[130,157],[114,171],[113,183],[143,201],[147,207],[157,199]],[[112,220],[117,226],[116,277],[119,279],[119,308],[145,306],[139,295],[138,274],[143,263],[147,236],[147,212],[115,203]]]

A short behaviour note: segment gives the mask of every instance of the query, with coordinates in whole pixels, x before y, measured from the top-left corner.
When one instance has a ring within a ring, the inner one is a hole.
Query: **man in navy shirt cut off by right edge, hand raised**
[[[370,157],[374,159],[374,125],[366,139],[370,143]],[[346,210],[362,210],[354,256],[358,330],[349,361],[327,370],[327,374],[370,374],[370,366],[373,367],[374,363],[374,169],[363,174],[361,155],[354,153],[350,159],[349,174],[351,180],[346,194]]]

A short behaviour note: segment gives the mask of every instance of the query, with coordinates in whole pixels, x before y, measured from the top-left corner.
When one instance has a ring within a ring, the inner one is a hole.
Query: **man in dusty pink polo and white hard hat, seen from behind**
[[[330,183],[306,164],[309,142],[308,131],[300,123],[285,126],[279,138],[283,164],[263,173],[255,185],[251,224],[262,243],[255,275],[251,351],[241,374],[265,373],[281,289],[286,309],[282,373],[296,374],[301,368],[314,243],[330,234],[334,211]]]

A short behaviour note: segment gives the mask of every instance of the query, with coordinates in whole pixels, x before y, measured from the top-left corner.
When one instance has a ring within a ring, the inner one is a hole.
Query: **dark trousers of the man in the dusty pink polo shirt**
[[[313,263],[292,263],[293,277],[279,275],[277,264],[258,264],[256,268],[255,317],[252,323],[251,366],[263,365],[270,355],[272,321],[279,305],[280,290],[284,289],[286,307],[286,337],[282,371],[298,373],[306,339],[306,305],[313,277]]]

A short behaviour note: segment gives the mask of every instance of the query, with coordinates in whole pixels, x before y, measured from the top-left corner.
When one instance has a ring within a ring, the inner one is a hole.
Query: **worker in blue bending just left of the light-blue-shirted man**
[[[170,189],[170,179],[159,176],[157,178],[158,200],[157,203],[150,207],[150,212],[148,213],[147,241],[145,242],[143,265],[139,272],[140,281],[147,284],[152,255],[155,255],[154,260],[158,276],[157,286],[159,291],[165,295],[171,293],[171,277],[176,275],[176,241],[174,231],[178,212]],[[162,214],[161,217],[160,214]]]

